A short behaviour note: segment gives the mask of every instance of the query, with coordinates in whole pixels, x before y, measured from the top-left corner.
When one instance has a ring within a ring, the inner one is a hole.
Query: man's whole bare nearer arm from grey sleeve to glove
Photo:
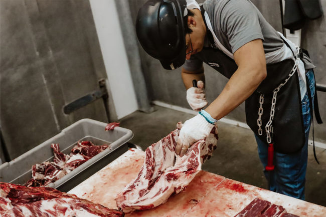
[[[205,109],[219,120],[245,101],[266,78],[266,59],[261,39],[240,47],[233,54],[238,69],[222,93]]]

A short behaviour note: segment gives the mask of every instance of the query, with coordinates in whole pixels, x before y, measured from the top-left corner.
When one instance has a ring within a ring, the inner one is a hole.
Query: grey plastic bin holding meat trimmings
[[[52,143],[59,143],[61,152],[65,154],[69,154],[72,147],[82,140],[91,141],[96,145],[109,145],[103,152],[61,179],[47,185],[47,187],[61,191],[69,191],[128,150],[127,142],[133,137],[132,131],[122,127],[115,127],[113,131],[105,131],[106,125],[106,123],[92,119],[77,121],[42,144],[0,165],[0,181],[25,184],[32,178],[31,168],[34,164],[53,160]]]

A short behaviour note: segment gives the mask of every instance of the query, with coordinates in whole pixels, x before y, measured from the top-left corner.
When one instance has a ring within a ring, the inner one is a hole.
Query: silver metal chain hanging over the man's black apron
[[[294,62],[294,66],[289,74],[289,76],[285,79],[285,81],[283,83],[281,83],[277,88],[275,88],[273,90],[273,98],[272,98],[272,106],[270,109],[270,116],[269,116],[269,121],[267,122],[266,126],[265,126],[265,130],[266,130],[266,135],[267,135],[267,143],[270,144],[271,143],[271,136],[270,133],[273,133],[273,126],[272,126],[272,122],[274,119],[274,113],[275,113],[275,104],[276,104],[276,96],[278,91],[280,90],[280,88],[282,86],[284,86],[286,84],[286,82],[292,77],[292,75],[296,72],[297,68],[298,68],[298,64],[300,61],[299,58],[299,51],[300,48],[296,47],[296,56],[295,56],[295,62]],[[258,134],[262,135],[263,131],[261,129],[261,116],[263,114],[263,103],[264,103],[264,94],[260,94],[260,98],[259,98],[259,104],[260,104],[260,108],[258,110],[258,119],[257,119],[257,125],[259,127],[258,129]]]

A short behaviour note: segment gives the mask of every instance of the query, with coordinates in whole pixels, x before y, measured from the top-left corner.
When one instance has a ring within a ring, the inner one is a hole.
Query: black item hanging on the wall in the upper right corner
[[[284,27],[299,30],[306,20],[315,20],[322,15],[319,0],[285,0]]]

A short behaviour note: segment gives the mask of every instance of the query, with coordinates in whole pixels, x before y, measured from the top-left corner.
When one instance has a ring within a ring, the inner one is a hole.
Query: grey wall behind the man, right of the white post
[[[326,10],[326,1],[320,0],[322,8]],[[145,3],[145,0],[129,0],[130,11],[135,22],[138,9]],[[203,3],[203,0],[198,3]],[[256,7],[264,15],[265,19],[279,32],[282,32],[279,0],[253,0]],[[316,80],[318,83],[326,84],[326,62],[325,54],[325,17],[315,21],[309,21],[302,29],[301,45],[307,48],[311,53],[311,59],[316,64]],[[128,37],[128,36],[125,36]],[[139,44],[138,44],[139,45]],[[146,80],[147,90],[151,100],[158,100],[172,105],[190,108],[186,100],[186,90],[181,79],[181,70],[164,70],[159,61],[147,55],[139,45],[143,73]],[[206,76],[206,93],[209,102],[212,102],[221,93],[227,79],[204,64]],[[326,93],[319,92],[319,107],[323,120],[326,122]],[[232,111],[228,118],[245,122],[244,103]],[[320,142],[326,142],[326,124],[315,124],[315,139]]]

